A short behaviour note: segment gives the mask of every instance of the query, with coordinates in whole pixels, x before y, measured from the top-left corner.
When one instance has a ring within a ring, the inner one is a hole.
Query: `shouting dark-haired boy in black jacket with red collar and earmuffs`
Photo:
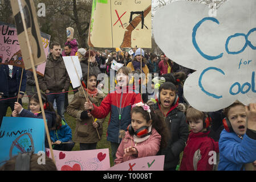
[[[177,87],[172,82],[165,82],[160,86],[156,101],[152,107],[160,113],[170,133],[168,145],[159,151],[159,155],[165,155],[164,170],[174,171],[188,139],[188,124],[184,113],[177,107]]]

